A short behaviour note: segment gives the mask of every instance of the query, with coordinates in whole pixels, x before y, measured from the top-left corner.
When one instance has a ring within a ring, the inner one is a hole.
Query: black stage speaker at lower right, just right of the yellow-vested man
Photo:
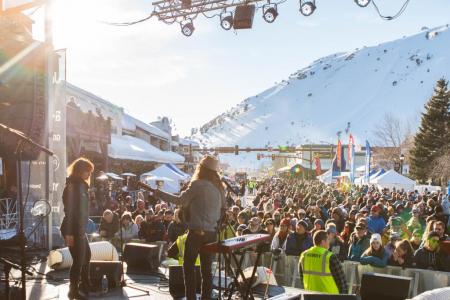
[[[409,296],[412,278],[378,273],[364,273],[361,300],[404,300]]]

